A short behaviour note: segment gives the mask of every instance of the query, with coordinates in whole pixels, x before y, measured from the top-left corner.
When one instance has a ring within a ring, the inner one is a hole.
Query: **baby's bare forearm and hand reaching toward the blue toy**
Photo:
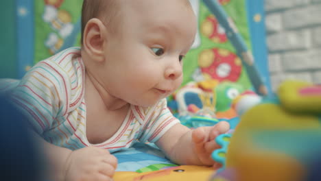
[[[229,128],[225,121],[195,130],[178,123],[159,138],[156,145],[163,149],[173,162],[180,165],[214,165],[211,154],[219,147],[215,138]]]

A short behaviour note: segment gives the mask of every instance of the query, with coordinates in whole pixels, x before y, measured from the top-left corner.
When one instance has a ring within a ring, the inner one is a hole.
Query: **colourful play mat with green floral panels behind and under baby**
[[[36,62],[80,45],[82,0],[10,2],[8,8],[14,6],[16,17],[8,28],[17,29],[11,35],[16,44],[12,46],[14,53],[5,59],[15,61],[1,66],[0,72],[16,72],[8,76],[22,77]],[[184,60],[182,87],[168,98],[169,108],[190,128],[222,120],[235,128],[235,98],[270,91],[263,0],[191,3],[198,16],[198,34]],[[175,165],[152,144],[136,143],[115,156],[117,171],[121,171],[115,180],[207,180],[214,173],[208,167]]]

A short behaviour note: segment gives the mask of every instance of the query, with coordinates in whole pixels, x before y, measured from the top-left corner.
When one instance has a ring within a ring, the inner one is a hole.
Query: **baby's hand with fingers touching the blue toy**
[[[219,148],[215,138],[219,134],[224,134],[230,129],[229,123],[221,121],[211,127],[201,127],[193,130],[193,151],[198,156],[200,165],[213,165],[215,169],[219,167],[219,164],[211,158],[211,154],[215,149]]]

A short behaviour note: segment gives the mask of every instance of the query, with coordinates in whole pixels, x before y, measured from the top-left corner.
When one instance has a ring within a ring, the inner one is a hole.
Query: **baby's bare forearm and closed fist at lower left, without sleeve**
[[[34,133],[34,138],[43,145],[48,159],[49,180],[56,181],[109,181],[115,173],[117,158],[108,150],[97,147],[84,147],[75,151],[47,143]]]

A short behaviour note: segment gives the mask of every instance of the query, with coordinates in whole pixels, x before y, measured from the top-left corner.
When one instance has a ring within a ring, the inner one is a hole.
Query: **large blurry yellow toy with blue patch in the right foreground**
[[[310,165],[321,164],[321,86],[287,81],[277,93],[246,111],[233,133],[226,170],[233,169],[237,180],[295,181],[319,174]]]

